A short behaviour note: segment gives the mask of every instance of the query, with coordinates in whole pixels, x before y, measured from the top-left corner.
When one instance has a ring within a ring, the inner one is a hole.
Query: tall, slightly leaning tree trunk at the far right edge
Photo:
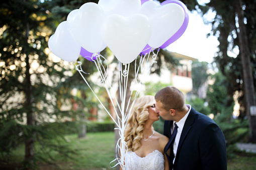
[[[251,71],[251,62],[250,62],[250,52],[248,48],[248,39],[246,34],[246,28],[244,25],[244,12],[242,10],[242,3],[239,0],[236,3],[236,14],[238,17],[239,24],[239,53],[242,60],[242,70],[243,70],[243,84],[244,84],[244,92],[246,99],[246,110],[249,119],[249,142],[256,143],[256,103],[255,103],[255,89],[253,85],[253,77]]]

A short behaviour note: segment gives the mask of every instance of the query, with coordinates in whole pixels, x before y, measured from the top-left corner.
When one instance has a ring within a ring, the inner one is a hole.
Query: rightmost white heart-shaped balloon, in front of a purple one
[[[147,16],[152,24],[152,35],[148,42],[152,48],[163,45],[181,28],[185,20],[183,8],[174,3],[161,6],[148,1],[141,6],[140,13]]]

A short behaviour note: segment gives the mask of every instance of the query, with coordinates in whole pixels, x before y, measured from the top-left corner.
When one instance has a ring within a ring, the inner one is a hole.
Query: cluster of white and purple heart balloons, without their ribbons
[[[94,61],[106,47],[123,64],[165,48],[187,29],[187,7],[178,0],[100,0],[83,4],[60,23],[48,46],[62,60]]]

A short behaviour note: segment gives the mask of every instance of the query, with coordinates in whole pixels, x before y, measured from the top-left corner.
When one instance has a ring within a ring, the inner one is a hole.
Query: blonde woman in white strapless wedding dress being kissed
[[[128,148],[125,169],[169,169],[168,159],[163,152],[169,139],[154,131],[152,125],[157,120],[159,114],[155,111],[153,96],[135,100],[124,134]]]

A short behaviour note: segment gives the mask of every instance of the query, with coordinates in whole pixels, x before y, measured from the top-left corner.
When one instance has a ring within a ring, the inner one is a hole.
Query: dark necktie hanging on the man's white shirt
[[[173,132],[172,136],[170,136],[170,139],[169,139],[168,143],[167,143],[166,146],[164,147],[164,153],[166,154],[166,156],[167,156],[167,158],[168,158],[170,169],[173,169],[173,160],[174,160],[174,149],[173,149],[173,145],[174,145],[175,137],[176,137],[176,134],[177,134],[177,129],[178,129],[178,126],[177,126],[177,124],[175,123],[174,132]],[[169,157],[169,155],[167,154],[167,150],[168,150],[169,148],[171,148],[171,149],[170,149],[170,157]]]

